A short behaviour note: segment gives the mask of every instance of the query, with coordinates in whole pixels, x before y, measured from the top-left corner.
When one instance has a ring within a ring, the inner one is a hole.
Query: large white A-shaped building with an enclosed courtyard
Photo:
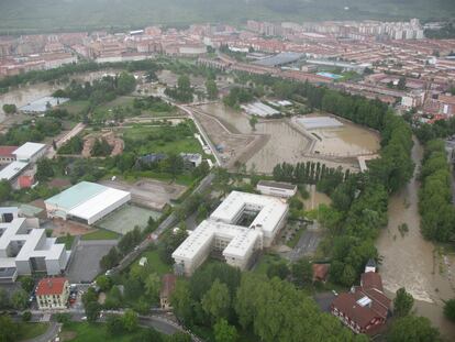
[[[232,266],[247,268],[256,251],[271,245],[287,212],[288,205],[278,198],[231,192],[173,253],[176,272],[191,275],[211,252],[221,253]]]

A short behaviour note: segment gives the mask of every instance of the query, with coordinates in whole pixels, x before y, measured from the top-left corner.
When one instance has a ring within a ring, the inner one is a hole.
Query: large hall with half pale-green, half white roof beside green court
[[[49,218],[92,224],[130,200],[130,192],[81,181],[44,203]]]

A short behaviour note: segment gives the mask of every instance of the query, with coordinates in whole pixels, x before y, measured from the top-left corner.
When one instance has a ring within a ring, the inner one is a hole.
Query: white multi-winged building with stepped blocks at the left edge
[[[65,271],[70,252],[55,238],[46,238],[38,219],[19,218],[16,208],[2,208],[2,218],[9,219],[0,223],[0,283],[33,272],[59,275]]]

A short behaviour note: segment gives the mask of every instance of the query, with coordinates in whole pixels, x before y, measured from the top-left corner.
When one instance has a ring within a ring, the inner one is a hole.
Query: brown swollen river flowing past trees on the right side
[[[455,297],[455,257],[444,255],[442,249],[425,241],[420,233],[417,174],[422,154],[422,146],[414,141],[414,176],[402,191],[389,200],[389,223],[377,241],[382,257],[380,274],[390,297],[400,287],[406,287],[415,299],[418,315],[428,317],[444,335],[455,341],[455,327],[442,312],[443,300]],[[403,234],[398,230],[402,223],[409,228],[409,232]]]

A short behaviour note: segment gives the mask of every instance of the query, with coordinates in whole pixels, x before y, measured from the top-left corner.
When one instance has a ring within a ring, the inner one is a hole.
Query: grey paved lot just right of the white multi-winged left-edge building
[[[79,241],[67,268],[69,283],[92,282],[101,272],[101,257],[116,243],[116,240]]]

